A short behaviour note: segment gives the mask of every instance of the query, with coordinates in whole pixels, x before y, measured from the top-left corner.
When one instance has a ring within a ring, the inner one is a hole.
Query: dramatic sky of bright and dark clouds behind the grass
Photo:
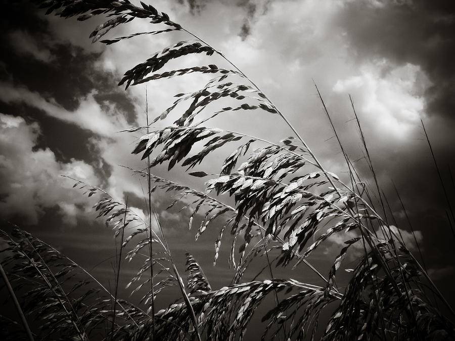
[[[419,231],[433,278],[443,283],[453,275],[448,206],[421,123],[450,204],[455,205],[450,176],[450,171],[455,176],[453,2],[174,0],[152,5],[223,52],[289,118],[323,165],[343,176],[346,167],[316,83],[350,158],[357,160],[357,169],[368,180],[371,176],[352,121],[351,94],[399,227],[409,229],[392,180]],[[60,175],[99,185],[117,200],[128,197],[130,206],[144,214],[144,181],[119,166],[144,167],[140,158],[130,154],[139,135],[118,131],[145,124],[145,86],[125,91],[116,84],[124,71],[190,37],[171,32],[109,46],[92,44],[88,36],[102,19],[78,22],[45,16],[23,1],[2,1],[2,7],[2,225],[12,221],[81,264],[94,265],[94,257],[102,262],[112,254],[112,236],[94,220],[91,206],[96,198],[87,200],[71,188],[74,182]],[[146,21],[134,20],[109,36],[153,29]],[[199,55],[171,66],[207,64],[228,67],[220,58]],[[207,79],[188,75],[149,83],[150,116],[166,109],[174,94],[197,90]],[[291,134],[278,118],[263,114],[226,115],[212,124],[273,141]],[[221,157],[216,161],[222,162]],[[183,168],[167,173],[158,167],[153,172],[202,188]],[[193,232],[185,231],[185,219],[164,211],[169,198],[161,193],[153,200],[176,257],[183,259],[187,248],[209,267],[213,236],[190,242]],[[208,272],[229,278],[222,270],[225,266]],[[95,270],[108,277],[112,269],[107,261]]]

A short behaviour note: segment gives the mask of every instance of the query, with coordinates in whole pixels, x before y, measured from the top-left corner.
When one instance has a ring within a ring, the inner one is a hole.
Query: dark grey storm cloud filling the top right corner
[[[359,58],[419,65],[432,83],[425,91],[427,113],[453,117],[455,2],[349,2],[339,24]]]

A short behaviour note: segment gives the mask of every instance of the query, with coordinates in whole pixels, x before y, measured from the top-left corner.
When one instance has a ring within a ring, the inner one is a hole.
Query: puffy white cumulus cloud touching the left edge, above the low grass
[[[97,183],[94,169],[74,159],[60,163],[50,149],[34,150],[38,134],[36,123],[0,114],[0,212],[4,218],[17,215],[37,223],[45,209],[58,206],[64,221],[75,224],[91,204],[61,175]]]

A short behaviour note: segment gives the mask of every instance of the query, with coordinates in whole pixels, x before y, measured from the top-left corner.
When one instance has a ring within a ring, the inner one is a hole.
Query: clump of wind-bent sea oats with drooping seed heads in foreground
[[[237,339],[245,335],[256,308],[270,299],[274,307],[265,313],[262,309],[264,339],[454,337],[450,322],[453,316],[442,316],[437,308],[444,306],[444,310],[453,314],[451,307],[408,250],[399,230],[391,228],[377,209],[378,205],[371,200],[374,193],[359,179],[344,150],[349,170],[347,183],[323,167],[297,129],[241,70],[211,45],[150,5],[141,3],[139,7],[127,0],[36,2],[48,14],[56,13],[63,18],[77,16],[83,21],[92,16],[107,16],[108,20],[90,36],[94,42],[121,43],[138,35],[170,31],[185,32],[191,39],[176,42],[126,71],[119,85],[128,88],[189,73],[213,78],[195,92],[175,95],[175,102],[150,124],[147,122],[147,126],[127,130],[143,134],[132,153],[146,160],[147,167],[132,171],[147,179],[147,221],[141,221],[129,209],[127,201],[116,201],[103,189],[73,179],[75,186],[84,189],[88,197],[101,194],[94,208],[113,228],[120,243],[114,289],[107,289],[71,259],[29,233],[17,227],[12,234],[2,233],[7,242],[2,250],[5,253],[2,276],[9,295],[17,298],[13,303],[21,317],[20,321],[13,321],[2,316],[5,336],[11,339],[98,339],[100,335],[103,339],[137,340]],[[147,20],[160,29],[102,40],[109,30],[132,20]],[[168,62],[190,54],[218,55],[224,59],[225,66],[209,64],[159,72]],[[226,101],[229,106],[224,106]],[[213,110],[214,107],[217,109]],[[218,115],[251,110],[278,115],[293,136],[274,142],[209,127],[210,120]],[[158,124],[172,115],[176,117],[173,125]],[[358,119],[357,123],[360,128]],[[362,143],[369,158],[363,135]],[[193,169],[227,147],[232,152],[224,157],[218,172]],[[189,175],[208,179],[205,191],[153,175],[153,167],[161,164],[166,164],[169,170],[184,166]],[[381,198],[373,167],[371,170],[376,195]],[[178,199],[170,207],[179,201],[190,203],[187,204],[192,209],[190,227],[196,215],[202,215],[196,238],[209,226],[219,229],[215,263],[223,233],[232,234],[230,262],[235,275],[226,286],[212,287],[190,254],[186,263],[187,282],[181,278],[165,231],[153,211],[151,197],[157,188],[178,193]],[[140,227],[131,232],[128,228],[131,224]],[[320,229],[324,232],[318,232]],[[330,242],[331,236],[346,230],[355,232],[356,237],[345,241],[339,255],[331,260],[329,273],[321,273],[308,262],[308,256]],[[350,269],[346,285],[337,286],[337,271],[349,248],[356,244],[362,247],[363,254]],[[118,297],[118,278],[123,260],[133,260],[144,253],[145,261],[128,284],[134,293],[143,294],[139,304],[134,305]],[[262,270],[268,279],[244,280],[255,260],[263,263]],[[272,265],[312,271],[324,285],[279,279]],[[179,288],[181,299],[158,310],[156,296],[170,285]],[[324,325],[318,324],[321,316],[327,316]]]

